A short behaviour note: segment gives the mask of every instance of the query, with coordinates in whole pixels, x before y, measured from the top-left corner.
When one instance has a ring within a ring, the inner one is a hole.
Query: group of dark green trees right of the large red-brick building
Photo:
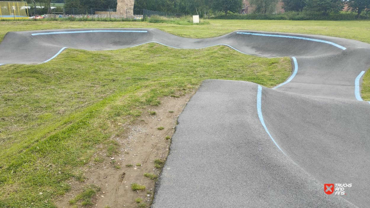
[[[356,12],[358,17],[363,11],[370,12],[370,0],[282,0],[285,11],[315,11],[327,16],[342,11],[344,6]]]

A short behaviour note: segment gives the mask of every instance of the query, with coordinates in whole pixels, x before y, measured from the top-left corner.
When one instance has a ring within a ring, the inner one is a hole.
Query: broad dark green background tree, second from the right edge
[[[306,0],[305,10],[323,13],[324,16],[329,13],[338,13],[344,7],[342,0]]]

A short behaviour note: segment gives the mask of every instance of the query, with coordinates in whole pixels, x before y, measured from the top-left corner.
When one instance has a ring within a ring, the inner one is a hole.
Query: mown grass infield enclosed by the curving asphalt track
[[[205,79],[266,87],[291,73],[290,59],[225,46],[182,50],[149,43],[113,51],[67,49],[39,65],[0,66],[0,207],[54,207],[68,180],[84,180],[98,144],[158,105],[158,97]],[[107,154],[107,157],[109,154]],[[31,202],[33,204],[31,205]]]

